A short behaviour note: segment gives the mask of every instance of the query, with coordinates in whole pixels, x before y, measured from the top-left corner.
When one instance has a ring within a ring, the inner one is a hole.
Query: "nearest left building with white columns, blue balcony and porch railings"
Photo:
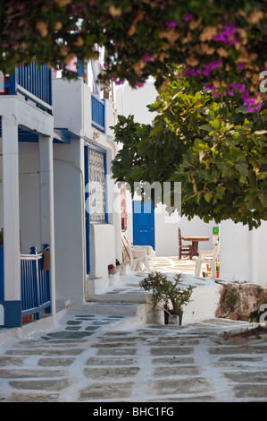
[[[0,302],[13,327],[21,315],[55,314],[52,74],[31,64],[1,79]],[[48,247],[44,271],[36,251]]]

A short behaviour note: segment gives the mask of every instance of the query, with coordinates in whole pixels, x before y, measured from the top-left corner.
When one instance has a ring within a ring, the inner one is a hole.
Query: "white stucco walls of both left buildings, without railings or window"
[[[89,279],[108,286],[108,265],[121,260],[121,215],[113,209],[118,193],[111,177],[116,147],[110,126],[115,110],[106,99],[104,133],[94,128],[91,90],[82,79],[54,80],[53,106],[48,112],[19,95],[0,99],[4,300],[21,300],[21,253],[29,254],[30,247],[42,252],[46,244],[55,317],[58,305],[90,299]],[[86,232],[84,153],[88,145],[103,151],[109,206],[105,220],[90,223]]]

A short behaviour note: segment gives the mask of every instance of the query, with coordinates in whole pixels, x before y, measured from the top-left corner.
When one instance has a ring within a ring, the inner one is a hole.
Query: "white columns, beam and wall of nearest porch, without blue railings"
[[[17,95],[1,96],[2,163],[0,223],[4,228],[4,300],[21,300],[21,252],[51,250],[52,314],[54,294],[54,117]],[[19,127],[38,133],[38,142],[19,142]]]

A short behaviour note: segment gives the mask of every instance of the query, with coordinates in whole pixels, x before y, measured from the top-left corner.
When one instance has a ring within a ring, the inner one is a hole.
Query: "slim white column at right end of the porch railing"
[[[50,248],[52,315],[55,317],[53,137],[39,136],[38,140],[40,172],[40,235],[41,244],[48,244]]]

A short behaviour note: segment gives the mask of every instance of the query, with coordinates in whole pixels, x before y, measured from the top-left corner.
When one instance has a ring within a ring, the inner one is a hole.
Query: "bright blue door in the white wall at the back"
[[[154,248],[154,208],[152,202],[133,201],[133,244]]]

